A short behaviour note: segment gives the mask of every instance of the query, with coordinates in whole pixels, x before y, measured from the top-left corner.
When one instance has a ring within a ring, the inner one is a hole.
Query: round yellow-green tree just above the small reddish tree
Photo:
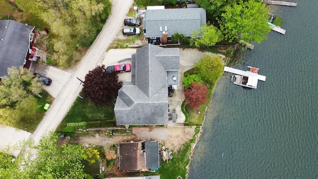
[[[220,56],[205,55],[200,62],[194,64],[197,74],[201,79],[208,83],[214,84],[223,73],[224,65]]]

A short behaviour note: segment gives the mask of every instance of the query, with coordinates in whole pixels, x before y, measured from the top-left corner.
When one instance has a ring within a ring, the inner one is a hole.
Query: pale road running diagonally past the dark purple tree
[[[132,3],[133,0],[112,0],[113,6],[111,15],[106,24],[86,55],[80,61],[76,71],[71,75],[61,92],[56,96],[34,134],[31,135],[36,144],[43,135],[51,130],[56,130],[61,123],[82,89],[82,85],[77,77],[84,80],[84,77],[89,70],[92,70],[96,65],[101,64],[107,47],[119,32],[123,19]]]

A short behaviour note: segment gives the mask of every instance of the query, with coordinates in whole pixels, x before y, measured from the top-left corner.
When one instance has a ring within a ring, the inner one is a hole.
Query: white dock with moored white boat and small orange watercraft
[[[235,74],[232,76],[232,82],[235,85],[256,89],[258,80],[265,82],[266,77],[258,75],[258,68],[247,67],[249,68],[248,71],[242,71],[231,67],[224,67],[224,71]]]

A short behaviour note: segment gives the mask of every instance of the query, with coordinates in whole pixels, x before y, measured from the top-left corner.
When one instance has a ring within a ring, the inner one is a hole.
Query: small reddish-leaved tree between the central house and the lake
[[[208,100],[208,92],[209,90],[207,86],[198,82],[193,82],[190,89],[183,90],[185,104],[197,109]]]

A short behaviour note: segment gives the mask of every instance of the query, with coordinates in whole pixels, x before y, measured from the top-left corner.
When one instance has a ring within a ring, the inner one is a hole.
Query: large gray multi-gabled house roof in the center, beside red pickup
[[[132,80],[118,91],[117,125],[167,125],[168,86],[178,86],[179,48],[148,44],[132,55]]]

